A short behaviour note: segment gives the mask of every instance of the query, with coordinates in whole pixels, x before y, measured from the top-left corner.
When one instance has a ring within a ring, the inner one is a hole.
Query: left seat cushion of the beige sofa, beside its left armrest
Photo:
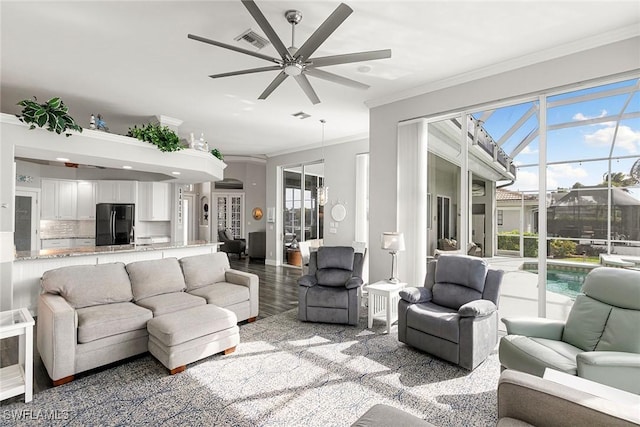
[[[150,310],[131,302],[94,305],[79,308],[78,342],[81,344],[124,332],[145,329],[153,318]]]

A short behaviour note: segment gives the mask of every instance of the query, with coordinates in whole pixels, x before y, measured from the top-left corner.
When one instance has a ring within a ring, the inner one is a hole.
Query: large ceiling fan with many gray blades
[[[251,68],[247,70],[232,71],[229,73],[213,74],[209,77],[212,79],[228,76],[237,76],[241,74],[261,73],[264,71],[280,71],[275,79],[267,86],[258,99],[266,99],[280,84],[289,76],[293,77],[298,85],[302,88],[309,100],[313,104],[318,104],[320,98],[313,90],[313,87],[307,79],[307,75],[317,77],[319,79],[328,80],[330,82],[343,84],[358,89],[367,89],[369,86],[358,81],[339,76],[320,70],[320,67],[328,65],[347,64],[351,62],[370,61],[374,59],[384,59],[391,57],[391,49],[375,50],[358,53],[347,53],[343,55],[323,56],[312,58],[311,55],[320,47],[322,43],[344,22],[353,10],[344,3],[341,3],[336,10],[316,29],[309,39],[298,49],[295,47],[295,26],[302,20],[302,13],[297,10],[288,10],[285,12],[285,18],[291,24],[291,47],[286,48],[282,40],[275,33],[265,16],[262,14],[258,6],[253,0],[242,0],[242,4],[247,8],[253,19],[258,23],[262,31],[276,49],[280,58],[264,55],[258,52],[242,49],[226,43],[210,40],[204,37],[188,34],[187,37],[203,43],[212,44],[214,46],[233,50],[236,52],[251,55],[256,58],[274,62],[276,65],[268,67]]]

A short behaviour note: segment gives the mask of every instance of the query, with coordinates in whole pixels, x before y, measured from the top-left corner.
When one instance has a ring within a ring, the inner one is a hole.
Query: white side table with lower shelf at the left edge
[[[0,312],[0,339],[18,336],[18,363],[0,369],[0,400],[33,398],[33,317],[26,308]]]

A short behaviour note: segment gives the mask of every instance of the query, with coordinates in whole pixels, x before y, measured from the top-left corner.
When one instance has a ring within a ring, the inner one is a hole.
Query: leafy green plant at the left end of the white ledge
[[[78,126],[75,120],[67,114],[69,108],[64,105],[60,98],[51,98],[44,104],[38,104],[38,99],[35,96],[33,99],[33,101],[24,99],[18,102],[18,105],[24,108],[22,109],[22,115],[16,114],[16,117],[21,122],[31,124],[29,129],[47,125],[49,132],[57,134],[64,132],[67,137],[71,136],[71,133],[67,132],[68,129],[82,132],[82,127]]]

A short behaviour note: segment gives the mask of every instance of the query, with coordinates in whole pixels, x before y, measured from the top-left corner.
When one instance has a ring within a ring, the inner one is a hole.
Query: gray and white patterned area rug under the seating
[[[497,355],[473,372],[398,342],[395,327],[303,323],[296,310],[240,327],[227,356],[177,375],[145,355],[0,407],[2,424],[348,426],[376,403],[438,426],[495,426]]]

